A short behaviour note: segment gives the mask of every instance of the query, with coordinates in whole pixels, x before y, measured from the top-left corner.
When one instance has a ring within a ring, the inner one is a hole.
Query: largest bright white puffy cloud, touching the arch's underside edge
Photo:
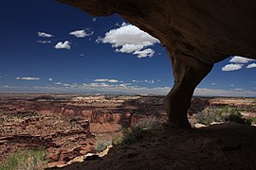
[[[116,52],[132,53],[137,55],[137,58],[152,57],[155,51],[147,47],[159,43],[157,39],[137,26],[127,24],[111,29],[105,34],[105,37],[99,38],[97,42],[111,43],[112,47],[116,48]]]

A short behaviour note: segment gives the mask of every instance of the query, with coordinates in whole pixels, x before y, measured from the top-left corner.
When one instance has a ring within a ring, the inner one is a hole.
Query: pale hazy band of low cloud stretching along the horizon
[[[29,89],[29,91],[34,92],[44,92],[44,93],[143,93],[143,94],[163,94],[166,95],[170,92],[171,87],[137,87],[125,83],[117,84],[107,84],[107,83],[83,83],[83,84],[62,84],[57,82],[58,86],[33,86],[33,87],[23,87],[23,91]],[[1,89],[4,89],[5,92],[8,89],[12,89],[12,92],[15,89],[18,92],[21,92],[20,87],[11,87],[8,85],[0,86]],[[196,88],[194,95],[203,95],[203,96],[251,96],[255,97],[256,92],[247,91],[243,89],[231,89],[231,90],[221,90],[221,89],[209,89],[209,88]]]

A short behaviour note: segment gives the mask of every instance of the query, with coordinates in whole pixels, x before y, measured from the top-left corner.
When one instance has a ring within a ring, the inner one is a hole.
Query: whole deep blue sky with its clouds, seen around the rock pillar
[[[95,18],[53,0],[5,1],[0,22],[0,93],[166,94],[174,84],[165,48],[119,15]],[[195,94],[256,96],[255,63],[216,63]]]

